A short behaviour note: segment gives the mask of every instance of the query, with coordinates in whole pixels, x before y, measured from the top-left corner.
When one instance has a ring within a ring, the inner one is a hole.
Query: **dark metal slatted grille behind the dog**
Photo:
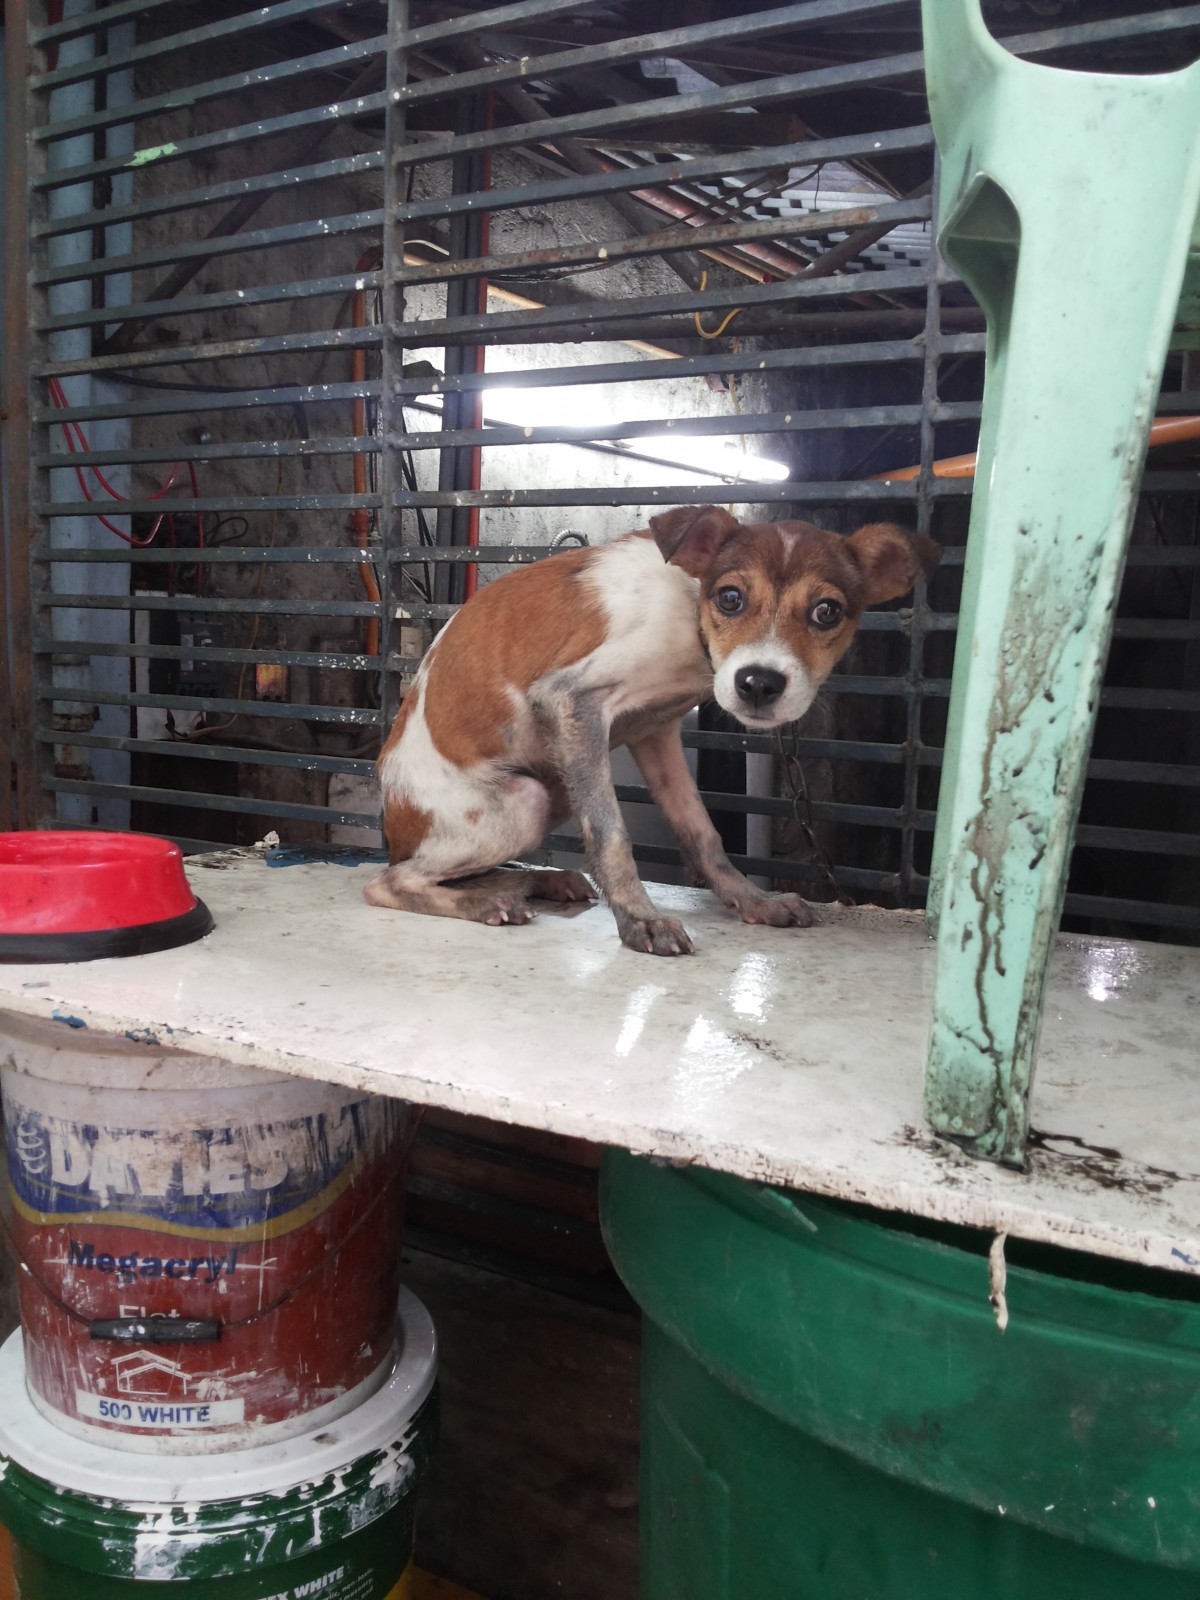
[[[1066,64],[1195,53],[1200,6],[1104,10],[997,24]],[[379,730],[477,581],[656,506],[899,517],[947,546],[931,592],[866,619],[784,749],[707,717],[690,744],[749,870],[821,893],[814,829],[843,890],[918,904],[970,496],[934,462],[971,448],[984,339],[930,238],[915,5],[451,13],[8,0],[2,803],[192,848],[374,838]],[[1114,197],[1098,248],[1117,229]],[[1200,411],[1194,363],[1160,414]],[[1176,448],[1144,482],[1067,914],[1195,938]]]

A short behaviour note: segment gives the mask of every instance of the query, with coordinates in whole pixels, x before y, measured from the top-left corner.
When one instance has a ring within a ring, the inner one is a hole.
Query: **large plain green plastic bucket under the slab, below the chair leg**
[[[643,1600],[1197,1600],[1200,1285],[608,1152]]]

